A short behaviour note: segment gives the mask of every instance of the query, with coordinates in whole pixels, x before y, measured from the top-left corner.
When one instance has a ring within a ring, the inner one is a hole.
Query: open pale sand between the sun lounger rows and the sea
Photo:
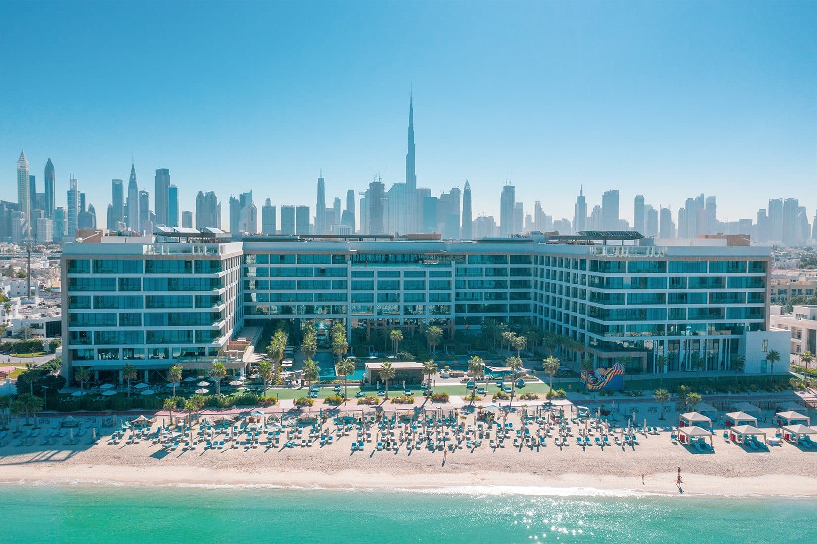
[[[511,415],[508,421],[519,415]],[[771,435],[774,430],[769,428]],[[0,450],[6,483],[118,483],[141,485],[261,485],[293,488],[480,488],[516,493],[575,493],[580,489],[667,495],[780,495],[817,497],[817,451],[785,443],[751,451],[712,436],[714,453],[673,444],[668,430],[638,435],[640,444],[580,447],[570,437],[558,448],[480,447],[444,453],[424,448],[351,452],[350,436],[321,447],[197,449],[170,453],[162,444],[7,446]],[[376,441],[376,439],[375,439]],[[676,484],[678,469],[682,483]],[[644,476],[642,483],[642,475]]]

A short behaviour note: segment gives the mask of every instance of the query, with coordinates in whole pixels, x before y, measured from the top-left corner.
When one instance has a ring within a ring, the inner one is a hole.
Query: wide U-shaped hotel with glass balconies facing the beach
[[[243,327],[276,320],[295,330],[340,321],[351,337],[427,324],[478,334],[485,318],[530,319],[580,342],[596,366],[629,372],[655,372],[662,354],[667,372],[699,358],[728,371],[743,354],[757,373],[764,351],[788,350],[787,333],[770,330],[769,247],[599,232],[233,242],[206,231],[65,243],[64,366],[208,368]]]

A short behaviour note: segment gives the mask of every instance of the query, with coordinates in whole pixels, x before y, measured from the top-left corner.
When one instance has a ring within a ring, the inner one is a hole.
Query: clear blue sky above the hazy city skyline
[[[503,182],[573,219],[622,192],[704,192],[721,219],[769,198],[817,207],[817,3],[0,2],[0,183],[20,149],[56,166],[105,225],[110,180],[170,168],[197,190],[315,207],[404,181],[413,87],[417,185],[466,178],[498,217]],[[313,209],[314,211],[314,209]],[[225,217],[226,219],[226,217]]]

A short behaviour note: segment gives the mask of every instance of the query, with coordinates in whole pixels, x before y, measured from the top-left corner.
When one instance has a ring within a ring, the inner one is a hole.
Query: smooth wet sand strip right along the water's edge
[[[9,466],[6,466],[9,468]],[[44,469],[44,470],[42,470]],[[435,484],[417,484],[427,474],[390,475],[359,470],[330,474],[288,470],[247,473],[241,470],[212,470],[196,466],[174,466],[172,478],[158,467],[134,466],[15,466],[13,475],[0,475],[5,485],[94,485],[190,488],[288,488],[300,490],[397,491],[404,493],[451,493],[471,495],[520,494],[556,497],[779,497],[817,498],[817,479],[797,475],[769,474],[753,477],[684,474],[681,488],[676,473],[625,478],[614,475],[562,474],[542,478],[528,473],[489,471],[435,474]],[[787,489],[789,493],[779,493]]]

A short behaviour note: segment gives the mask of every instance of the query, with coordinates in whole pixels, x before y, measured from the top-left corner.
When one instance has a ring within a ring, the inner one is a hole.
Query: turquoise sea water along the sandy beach
[[[0,486],[0,542],[815,542],[817,501]]]

